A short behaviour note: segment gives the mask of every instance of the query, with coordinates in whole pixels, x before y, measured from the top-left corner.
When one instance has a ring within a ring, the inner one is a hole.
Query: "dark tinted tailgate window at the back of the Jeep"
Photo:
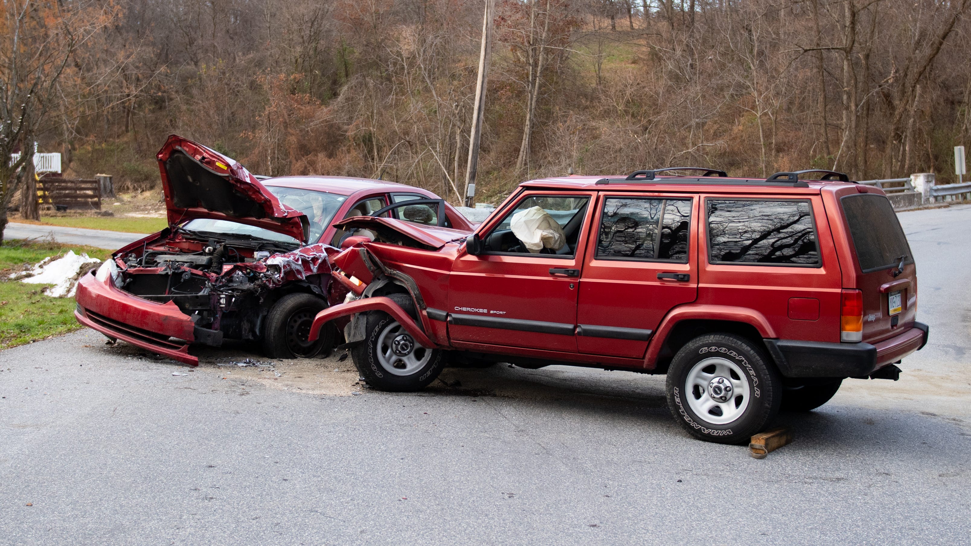
[[[887,197],[857,193],[844,197],[841,202],[863,272],[897,265],[901,256],[907,257],[906,263],[913,263],[907,236]]]

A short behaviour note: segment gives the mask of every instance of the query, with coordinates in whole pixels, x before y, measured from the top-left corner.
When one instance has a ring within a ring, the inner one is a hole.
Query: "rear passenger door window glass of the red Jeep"
[[[690,199],[608,197],[596,257],[687,263],[690,223]]]

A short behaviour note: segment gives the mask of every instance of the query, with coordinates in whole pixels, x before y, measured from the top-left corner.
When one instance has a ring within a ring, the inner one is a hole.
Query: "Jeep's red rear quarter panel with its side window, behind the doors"
[[[710,194],[698,303],[754,312],[781,339],[839,341],[840,262],[819,194]]]

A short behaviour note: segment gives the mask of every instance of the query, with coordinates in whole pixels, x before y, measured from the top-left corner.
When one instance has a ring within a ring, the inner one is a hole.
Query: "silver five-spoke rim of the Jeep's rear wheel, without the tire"
[[[685,380],[687,405],[711,425],[726,425],[749,407],[749,378],[735,362],[720,357],[694,364]]]

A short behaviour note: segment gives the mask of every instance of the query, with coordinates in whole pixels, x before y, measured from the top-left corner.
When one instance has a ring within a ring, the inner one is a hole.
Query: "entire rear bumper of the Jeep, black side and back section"
[[[784,377],[866,377],[899,361],[927,343],[928,327],[915,323],[876,344],[823,343],[766,339],[765,347]]]

